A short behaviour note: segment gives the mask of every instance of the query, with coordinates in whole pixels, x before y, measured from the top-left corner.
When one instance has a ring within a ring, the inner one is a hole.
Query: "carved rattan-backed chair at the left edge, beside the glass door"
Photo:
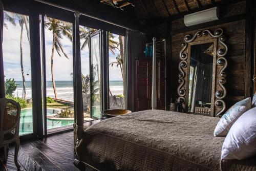
[[[20,105],[11,99],[0,98],[0,147],[4,147],[5,160],[7,160],[7,148],[15,142],[14,163],[19,169],[19,119]]]

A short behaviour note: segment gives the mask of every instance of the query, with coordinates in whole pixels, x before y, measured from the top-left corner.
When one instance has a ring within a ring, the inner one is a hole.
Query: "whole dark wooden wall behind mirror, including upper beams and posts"
[[[254,32],[256,34],[256,30],[254,30],[256,22],[253,20],[251,26],[248,24],[247,14],[251,10],[249,11],[249,5],[246,7],[247,3],[250,4],[249,1],[237,1],[220,7],[220,20],[214,22],[186,27],[184,25],[184,18],[178,18],[170,20],[165,24],[145,29],[148,39],[151,39],[153,36],[166,38],[166,105],[169,104],[171,98],[176,99],[178,97],[179,51],[181,50],[184,36],[186,34],[193,35],[198,30],[204,29],[209,29],[213,32],[217,28],[222,28],[224,35],[227,37],[228,54],[226,58],[228,67],[226,69],[227,82],[225,84],[227,89],[227,96],[225,98],[227,108],[235,102],[250,96],[250,75],[253,75],[253,70],[250,68],[251,66],[253,67],[251,64],[254,63],[253,59],[256,52],[255,50],[253,51],[253,48],[255,49],[256,47],[256,39],[252,38],[254,43],[251,44],[248,37],[249,35],[253,36]],[[254,7],[254,11],[255,9]],[[255,13],[252,15],[255,18]],[[253,30],[250,31],[248,27],[253,28]],[[250,54],[249,51],[252,53]]]

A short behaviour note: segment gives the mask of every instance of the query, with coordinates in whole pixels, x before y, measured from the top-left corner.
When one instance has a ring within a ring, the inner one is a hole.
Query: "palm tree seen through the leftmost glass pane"
[[[19,41],[19,48],[20,48],[20,69],[22,70],[22,80],[23,80],[23,98],[26,99],[26,80],[25,80],[25,75],[24,75],[24,67],[23,67],[23,30],[24,30],[24,25],[27,31],[27,37],[30,45],[30,37],[29,37],[29,26],[28,26],[28,16],[22,15],[22,14],[17,14],[17,13],[12,13],[12,12],[5,12],[5,20],[10,22],[12,25],[16,26],[16,20],[19,23],[20,26],[20,41]],[[4,24],[4,26],[8,29],[7,24]]]

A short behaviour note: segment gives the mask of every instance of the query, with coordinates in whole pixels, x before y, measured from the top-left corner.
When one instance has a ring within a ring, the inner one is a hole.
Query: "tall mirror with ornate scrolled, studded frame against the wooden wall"
[[[178,101],[184,112],[221,116],[226,108],[227,46],[222,29],[186,35],[180,51]]]

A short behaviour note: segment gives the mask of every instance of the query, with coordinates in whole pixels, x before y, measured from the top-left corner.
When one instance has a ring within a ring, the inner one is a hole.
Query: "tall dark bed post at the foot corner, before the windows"
[[[78,11],[75,12],[75,105],[76,105],[76,123],[77,123],[77,139],[80,140],[83,135],[83,102],[82,102],[82,75],[81,75],[81,54],[80,54],[80,34],[79,34],[79,16]]]

